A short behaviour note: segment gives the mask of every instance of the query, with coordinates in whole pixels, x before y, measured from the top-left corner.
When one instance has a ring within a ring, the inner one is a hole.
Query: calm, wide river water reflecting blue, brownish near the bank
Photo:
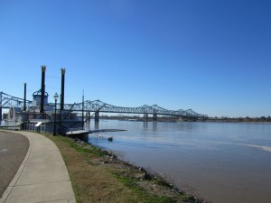
[[[89,143],[216,203],[271,202],[271,124],[100,120]],[[108,136],[114,141],[109,143]]]

